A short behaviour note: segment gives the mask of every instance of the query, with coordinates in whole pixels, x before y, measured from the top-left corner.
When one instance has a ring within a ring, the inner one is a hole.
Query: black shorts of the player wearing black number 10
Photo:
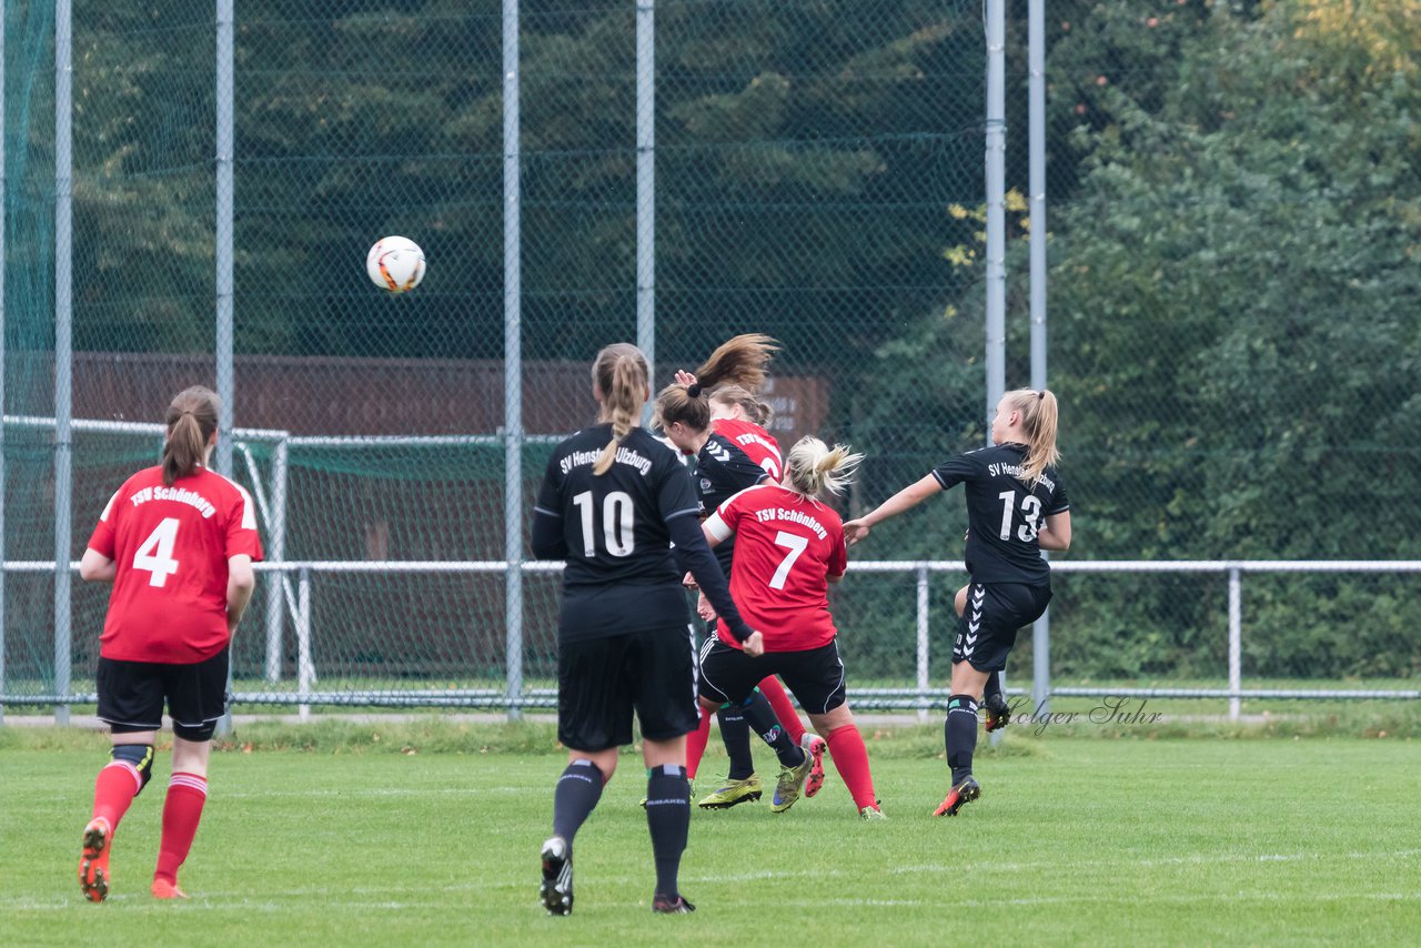
[[[671,740],[701,722],[691,627],[558,642],[557,739],[573,750],[607,750],[641,736]]]

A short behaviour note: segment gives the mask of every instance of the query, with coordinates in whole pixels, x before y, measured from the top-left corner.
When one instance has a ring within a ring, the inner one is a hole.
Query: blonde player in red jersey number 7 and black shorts
[[[750,657],[723,624],[701,651],[701,702],[715,708],[743,701],[757,682],[780,675],[809,712],[863,819],[882,819],[863,735],[848,709],[844,664],[838,657],[828,584],[848,567],[844,526],[817,497],[840,493],[863,455],[801,438],[786,458],[784,479],[742,490],[712,515],[702,529],[713,544],[735,537],[730,596],[745,621],[763,634],[764,654]],[[750,617],[755,618],[750,618]],[[794,748],[799,750],[799,748]],[[783,813],[800,796],[810,755],[782,770],[770,810]]]

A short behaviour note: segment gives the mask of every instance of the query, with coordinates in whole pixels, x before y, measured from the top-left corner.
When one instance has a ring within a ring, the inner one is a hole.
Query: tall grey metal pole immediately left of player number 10
[[[523,271],[519,0],[503,0],[503,623],[509,721],[523,716]]]

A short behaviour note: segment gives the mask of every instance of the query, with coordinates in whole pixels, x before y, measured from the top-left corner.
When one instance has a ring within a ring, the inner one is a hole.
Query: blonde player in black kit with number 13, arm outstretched
[[[1052,392],[1007,392],[992,416],[993,446],[958,455],[872,513],[844,524],[848,542],[857,543],[888,517],[939,490],[966,485],[966,567],[972,581],[952,647],[952,696],[944,723],[952,789],[936,816],[956,816],[982,795],[972,777],[976,696],[988,677],[1006,667],[1016,631],[1036,621],[1050,603],[1052,574],[1042,550],[1070,546],[1070,502],[1056,472],[1056,419]]]

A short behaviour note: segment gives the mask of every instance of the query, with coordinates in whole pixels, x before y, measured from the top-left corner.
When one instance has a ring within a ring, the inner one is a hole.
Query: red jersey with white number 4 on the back
[[[148,468],[104,507],[90,549],[114,560],[99,655],[186,665],[227,644],[227,559],[261,559],[252,496],[199,468],[163,485]]]

